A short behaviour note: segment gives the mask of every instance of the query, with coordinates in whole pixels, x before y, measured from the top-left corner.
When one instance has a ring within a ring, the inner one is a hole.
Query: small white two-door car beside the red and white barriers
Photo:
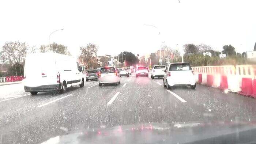
[[[171,63],[165,69],[163,86],[171,89],[173,86],[190,86],[196,88],[196,78],[189,63]]]

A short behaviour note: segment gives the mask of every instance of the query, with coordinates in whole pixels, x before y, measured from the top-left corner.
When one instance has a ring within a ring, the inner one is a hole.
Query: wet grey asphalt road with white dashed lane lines
[[[118,86],[89,81],[65,94],[14,93],[0,97],[0,143],[42,143],[81,129],[144,122],[256,120],[255,99],[199,84],[196,90],[169,91],[162,79],[136,78],[135,73],[121,77]]]

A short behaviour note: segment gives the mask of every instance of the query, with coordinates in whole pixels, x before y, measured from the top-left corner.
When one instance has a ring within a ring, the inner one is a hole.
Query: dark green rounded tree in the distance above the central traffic
[[[125,56],[124,56],[125,54]],[[120,53],[118,54],[119,56],[119,62],[123,62],[123,58],[124,60],[126,61],[126,66],[129,67],[129,66],[132,66],[132,65],[136,65],[139,63],[139,59],[138,57],[136,57],[133,53],[131,52],[126,52],[124,51],[123,53]]]

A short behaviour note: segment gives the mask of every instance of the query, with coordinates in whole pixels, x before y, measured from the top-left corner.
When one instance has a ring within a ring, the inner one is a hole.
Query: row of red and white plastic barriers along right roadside
[[[256,65],[192,67],[199,84],[256,98]]]

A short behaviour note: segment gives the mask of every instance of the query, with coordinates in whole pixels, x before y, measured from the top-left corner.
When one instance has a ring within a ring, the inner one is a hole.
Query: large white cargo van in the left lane
[[[76,58],[49,53],[29,54],[24,67],[24,89],[32,95],[42,91],[60,91],[67,87],[84,86],[82,67]]]

